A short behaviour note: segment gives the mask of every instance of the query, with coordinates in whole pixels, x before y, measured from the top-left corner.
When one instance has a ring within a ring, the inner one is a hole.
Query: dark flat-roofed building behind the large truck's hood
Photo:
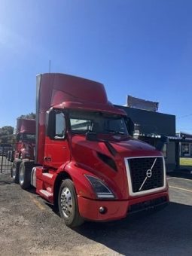
[[[133,120],[136,139],[148,142],[155,147],[163,136],[172,138],[164,145],[163,155],[166,160],[166,169],[176,169],[179,165],[179,159],[177,141],[175,142],[175,115],[116,106],[126,111],[127,116]]]

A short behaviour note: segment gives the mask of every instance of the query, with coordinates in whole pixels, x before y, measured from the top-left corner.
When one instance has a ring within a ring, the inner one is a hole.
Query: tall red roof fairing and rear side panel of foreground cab
[[[103,84],[65,74],[42,74],[36,79],[36,155],[35,162],[43,165],[45,144],[46,111],[51,107],[66,108],[78,102],[81,108],[96,110],[102,106],[102,110],[110,108],[117,111],[107,99]],[[63,105],[63,102],[65,104]],[[97,105],[97,108],[96,108]]]

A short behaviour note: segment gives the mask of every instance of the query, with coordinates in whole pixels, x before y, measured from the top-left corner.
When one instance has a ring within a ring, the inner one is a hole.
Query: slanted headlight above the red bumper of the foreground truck
[[[99,178],[90,175],[85,175],[85,177],[88,179],[88,181],[90,181],[90,184],[93,186],[96,197],[100,199],[114,198],[114,194],[105,184],[103,184],[102,181],[99,180]]]

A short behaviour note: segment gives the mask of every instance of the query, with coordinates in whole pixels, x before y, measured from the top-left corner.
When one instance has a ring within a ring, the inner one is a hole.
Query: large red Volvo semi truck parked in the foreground
[[[35,161],[14,161],[23,189],[59,208],[66,225],[111,221],[169,202],[163,155],[133,139],[133,122],[102,84],[37,76]]]

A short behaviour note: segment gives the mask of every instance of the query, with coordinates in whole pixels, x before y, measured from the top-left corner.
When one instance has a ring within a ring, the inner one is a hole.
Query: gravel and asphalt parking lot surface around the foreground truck
[[[168,181],[166,209],[72,230],[34,190],[0,174],[1,255],[192,255],[192,180]]]

